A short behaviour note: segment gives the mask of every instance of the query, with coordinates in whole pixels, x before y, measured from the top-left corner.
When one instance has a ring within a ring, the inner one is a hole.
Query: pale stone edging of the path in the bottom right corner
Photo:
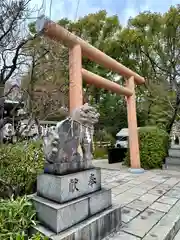
[[[167,240],[173,239],[180,229],[180,201],[149,231],[143,240]],[[179,239],[178,239],[179,240]]]

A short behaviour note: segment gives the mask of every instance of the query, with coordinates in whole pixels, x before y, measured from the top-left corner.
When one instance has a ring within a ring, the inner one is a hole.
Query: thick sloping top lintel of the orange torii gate
[[[125,67],[124,65],[109,57],[105,53],[101,52],[97,48],[93,47],[86,41],[77,37],[73,33],[67,31],[60,25],[49,20],[45,16],[41,16],[38,18],[36,22],[36,29],[38,33],[42,32],[50,39],[62,42],[65,46],[69,48],[79,44],[81,46],[83,56],[124,77],[134,77],[136,84],[143,84],[145,82],[144,78],[137,73]]]

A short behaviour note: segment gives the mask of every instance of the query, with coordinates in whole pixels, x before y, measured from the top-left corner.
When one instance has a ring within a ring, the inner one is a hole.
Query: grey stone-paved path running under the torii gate
[[[121,230],[104,240],[180,240],[180,172],[137,175],[120,163],[93,163],[102,168],[102,185],[112,189],[113,203],[122,206]]]

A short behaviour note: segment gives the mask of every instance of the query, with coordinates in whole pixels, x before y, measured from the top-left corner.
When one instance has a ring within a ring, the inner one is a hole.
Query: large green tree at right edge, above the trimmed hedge
[[[146,78],[139,91],[144,91],[140,105],[148,106],[148,123],[163,125],[168,133],[180,106],[179,25],[179,5],[165,14],[144,12],[129,20],[116,43],[123,63]]]

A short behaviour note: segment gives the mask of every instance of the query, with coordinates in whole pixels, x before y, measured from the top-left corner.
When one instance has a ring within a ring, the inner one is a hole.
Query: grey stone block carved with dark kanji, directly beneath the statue
[[[100,189],[100,168],[63,176],[42,174],[37,178],[37,195],[58,203],[64,203]]]

